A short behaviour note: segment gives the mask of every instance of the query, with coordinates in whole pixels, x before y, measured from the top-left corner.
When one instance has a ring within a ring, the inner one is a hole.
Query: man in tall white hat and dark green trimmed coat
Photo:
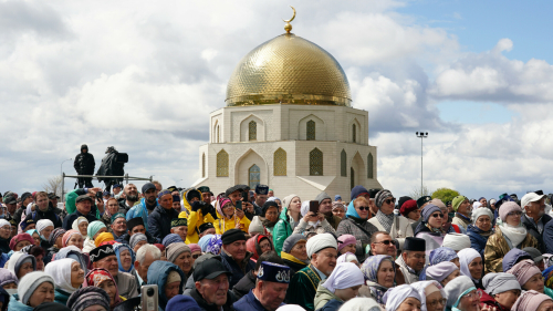
[[[289,303],[300,304],[314,311],[316,288],[326,280],[336,267],[337,241],[331,234],[321,234],[307,240],[307,256],[311,263],[295,272],[286,293]]]

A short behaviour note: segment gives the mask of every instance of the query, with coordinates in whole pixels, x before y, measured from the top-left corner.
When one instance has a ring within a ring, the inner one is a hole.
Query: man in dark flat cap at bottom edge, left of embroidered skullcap
[[[190,291],[190,297],[202,310],[233,310],[233,301],[229,293],[231,276],[232,273],[217,258],[198,263],[192,273],[196,289]]]

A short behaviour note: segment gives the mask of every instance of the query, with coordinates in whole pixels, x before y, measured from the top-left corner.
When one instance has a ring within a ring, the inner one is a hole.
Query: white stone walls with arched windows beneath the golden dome
[[[285,152],[285,166],[282,156],[274,162],[279,148]],[[319,152],[310,158],[315,148],[322,153],[322,166],[316,166],[321,164],[315,156]],[[209,143],[199,151],[201,178],[194,186],[209,186],[216,195],[237,184],[250,185],[258,177],[281,199],[289,194],[313,199],[326,191],[349,200],[352,183],[367,189],[382,187],[376,174],[376,147],[368,145],[368,113],[356,108],[291,104],[223,107],[210,114]],[[218,176],[226,175],[217,167],[221,151],[228,154],[228,176]],[[250,174],[253,165],[259,167],[259,175]],[[276,175],[285,176],[275,176],[275,169]]]

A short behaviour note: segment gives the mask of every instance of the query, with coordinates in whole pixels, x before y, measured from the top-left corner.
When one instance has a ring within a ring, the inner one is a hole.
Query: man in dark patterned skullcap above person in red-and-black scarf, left
[[[109,271],[112,277],[115,279],[115,282],[117,283],[119,296],[124,297],[125,299],[131,299],[138,296],[136,279],[129,273],[119,271],[117,257],[115,256],[113,246],[103,245],[96,247],[95,249],[91,250],[90,259],[92,262],[92,267],[104,268]]]

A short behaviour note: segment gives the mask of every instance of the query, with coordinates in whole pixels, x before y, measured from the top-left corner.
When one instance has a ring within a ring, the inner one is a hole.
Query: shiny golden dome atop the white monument
[[[284,33],[253,49],[227,86],[227,106],[306,104],[351,106],[347,76],[315,43]]]

